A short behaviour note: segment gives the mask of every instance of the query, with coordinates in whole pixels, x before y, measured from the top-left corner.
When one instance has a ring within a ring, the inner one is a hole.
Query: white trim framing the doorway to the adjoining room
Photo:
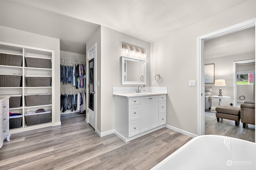
[[[204,41],[241,31],[256,25],[256,18],[198,37],[198,135],[205,134],[204,121]],[[256,58],[256,57],[255,57]],[[255,134],[256,136],[256,134]]]

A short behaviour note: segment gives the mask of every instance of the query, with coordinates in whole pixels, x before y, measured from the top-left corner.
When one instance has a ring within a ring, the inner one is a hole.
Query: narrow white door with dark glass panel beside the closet
[[[96,44],[87,51],[87,123],[96,129]]]

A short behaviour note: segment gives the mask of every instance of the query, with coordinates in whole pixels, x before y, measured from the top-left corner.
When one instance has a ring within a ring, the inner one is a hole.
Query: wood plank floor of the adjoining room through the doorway
[[[238,126],[235,125],[235,121],[228,119],[220,119],[220,122],[217,122],[215,110],[206,111],[212,113],[215,117],[210,123],[205,123],[206,135],[223,135],[255,142],[255,125],[246,124],[246,128],[243,128],[243,123],[241,122]]]

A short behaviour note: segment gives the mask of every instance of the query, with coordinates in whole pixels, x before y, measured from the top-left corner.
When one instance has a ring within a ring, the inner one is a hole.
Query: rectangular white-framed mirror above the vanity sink
[[[146,84],[146,61],[122,56],[122,84]]]

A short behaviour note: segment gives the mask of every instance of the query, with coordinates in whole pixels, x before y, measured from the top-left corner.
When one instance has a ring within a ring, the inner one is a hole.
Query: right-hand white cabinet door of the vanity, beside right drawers
[[[158,127],[158,96],[150,96],[150,129]]]

